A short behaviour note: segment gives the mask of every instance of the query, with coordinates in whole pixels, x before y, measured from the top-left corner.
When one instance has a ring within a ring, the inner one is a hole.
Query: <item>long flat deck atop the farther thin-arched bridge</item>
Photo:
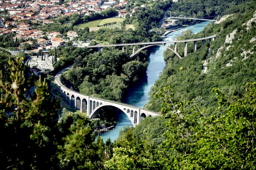
[[[127,44],[108,44],[108,45],[89,45],[88,48],[97,48],[97,47],[118,47],[118,46],[128,46],[128,45],[153,45],[153,44],[169,44],[169,43],[178,43],[178,42],[193,42],[215,38],[216,35],[207,36],[204,38],[197,39],[186,39],[186,40],[174,40],[174,41],[157,41],[157,42],[137,42],[137,43],[127,43]]]

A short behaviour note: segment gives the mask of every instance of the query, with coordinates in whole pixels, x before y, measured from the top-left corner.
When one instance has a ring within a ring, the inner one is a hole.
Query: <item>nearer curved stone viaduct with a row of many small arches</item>
[[[154,111],[149,111],[143,108],[139,108],[133,105],[128,105],[121,102],[105,100],[100,98],[95,98],[93,96],[83,95],[79,92],[71,90],[64,86],[60,81],[60,75],[70,69],[72,67],[69,66],[56,74],[55,81],[60,87],[60,91],[63,94],[64,99],[70,105],[70,107],[75,108],[76,110],[80,110],[81,113],[86,113],[89,118],[95,118],[98,114],[100,108],[104,106],[113,106],[122,110],[126,116],[129,117],[133,126],[136,126],[140,123],[140,121],[148,116],[161,116],[161,114],[156,113]]]

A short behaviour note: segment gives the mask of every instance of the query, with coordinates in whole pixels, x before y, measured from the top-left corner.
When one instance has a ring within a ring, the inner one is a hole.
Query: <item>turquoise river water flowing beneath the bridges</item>
[[[166,35],[163,41],[175,40],[186,30],[191,30],[192,33],[198,33],[209,23],[209,21],[206,21],[200,24],[184,27],[183,29],[169,33]],[[159,78],[160,72],[162,72],[165,68],[163,52],[166,50],[166,48],[157,46],[148,50],[150,50],[150,53],[148,57],[148,69],[146,75],[127,92],[127,95],[123,101],[124,103],[135,105],[137,107],[143,107],[148,102],[148,92],[151,86],[154,85],[155,81]],[[110,138],[113,142],[118,137],[120,129],[123,129],[125,126],[133,126],[130,119],[122,111],[116,114],[116,119],[117,125],[115,126],[115,129],[101,134],[104,142],[108,138]]]

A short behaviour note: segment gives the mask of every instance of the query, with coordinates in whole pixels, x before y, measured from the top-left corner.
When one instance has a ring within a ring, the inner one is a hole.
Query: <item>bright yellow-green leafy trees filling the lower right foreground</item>
[[[120,170],[256,168],[256,83],[247,84],[244,96],[236,93],[226,96],[217,88],[212,92],[217,96],[216,110],[222,112],[220,116],[206,116],[209,113],[205,109],[191,102],[187,102],[190,110],[183,110],[185,104],[173,99],[171,87],[161,89],[156,96],[164,99],[161,113],[167,128],[161,147],[150,144],[151,139],[134,135],[137,128],[143,130],[142,126],[126,129],[113,144],[113,157],[105,162],[105,167]]]

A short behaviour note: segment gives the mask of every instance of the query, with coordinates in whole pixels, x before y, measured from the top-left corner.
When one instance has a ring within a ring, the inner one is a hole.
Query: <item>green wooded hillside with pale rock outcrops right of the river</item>
[[[165,51],[166,69],[151,88],[146,107],[160,111],[162,99],[156,99],[154,95],[166,86],[172,87],[175,99],[185,103],[193,100],[199,107],[207,107],[212,114],[217,105],[215,95],[211,93],[213,87],[218,87],[229,96],[233,92],[243,94],[245,84],[256,81],[255,5],[255,2],[248,2],[233,6],[226,11],[230,15],[219,24],[211,23],[197,35],[186,31],[178,37],[189,39],[217,34],[216,40],[210,44],[197,42],[199,50],[195,53],[192,53],[192,43],[188,44],[188,55],[182,60]],[[178,53],[183,55],[183,49],[184,45],[179,46]]]

